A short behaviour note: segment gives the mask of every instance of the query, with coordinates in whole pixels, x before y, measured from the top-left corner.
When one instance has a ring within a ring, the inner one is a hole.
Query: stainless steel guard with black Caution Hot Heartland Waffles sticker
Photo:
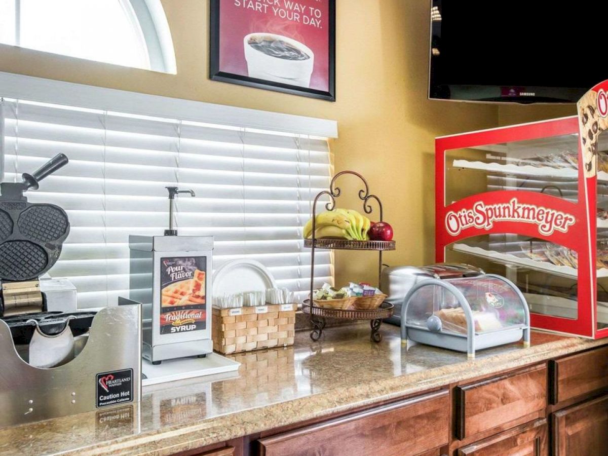
[[[0,428],[139,402],[141,311],[126,302],[100,310],[78,356],[48,369],[21,359],[0,320]]]

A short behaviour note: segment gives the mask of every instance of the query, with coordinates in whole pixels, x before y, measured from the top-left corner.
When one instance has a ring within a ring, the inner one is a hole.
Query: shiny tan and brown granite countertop
[[[144,387],[140,404],[0,430],[0,454],[168,455],[451,382],[608,344],[533,331],[521,343],[466,353],[402,347],[399,328],[328,328],[312,342],[230,356],[238,372]]]

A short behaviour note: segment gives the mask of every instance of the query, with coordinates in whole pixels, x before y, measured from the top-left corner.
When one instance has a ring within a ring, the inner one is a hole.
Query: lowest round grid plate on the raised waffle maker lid
[[[0,244],[0,276],[5,280],[28,280],[46,268],[49,256],[30,241],[7,241]]]

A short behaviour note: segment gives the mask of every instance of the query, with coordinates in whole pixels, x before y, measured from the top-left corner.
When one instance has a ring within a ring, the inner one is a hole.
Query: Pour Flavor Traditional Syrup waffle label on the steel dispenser
[[[161,334],[207,326],[207,257],[161,258]]]

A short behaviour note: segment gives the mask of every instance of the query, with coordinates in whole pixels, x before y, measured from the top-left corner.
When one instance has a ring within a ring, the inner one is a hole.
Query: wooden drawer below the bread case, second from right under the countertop
[[[455,388],[456,437],[460,440],[510,421],[530,421],[547,407],[547,367],[509,373]],[[540,415],[539,415],[540,416]],[[538,417],[539,417],[538,416]]]

